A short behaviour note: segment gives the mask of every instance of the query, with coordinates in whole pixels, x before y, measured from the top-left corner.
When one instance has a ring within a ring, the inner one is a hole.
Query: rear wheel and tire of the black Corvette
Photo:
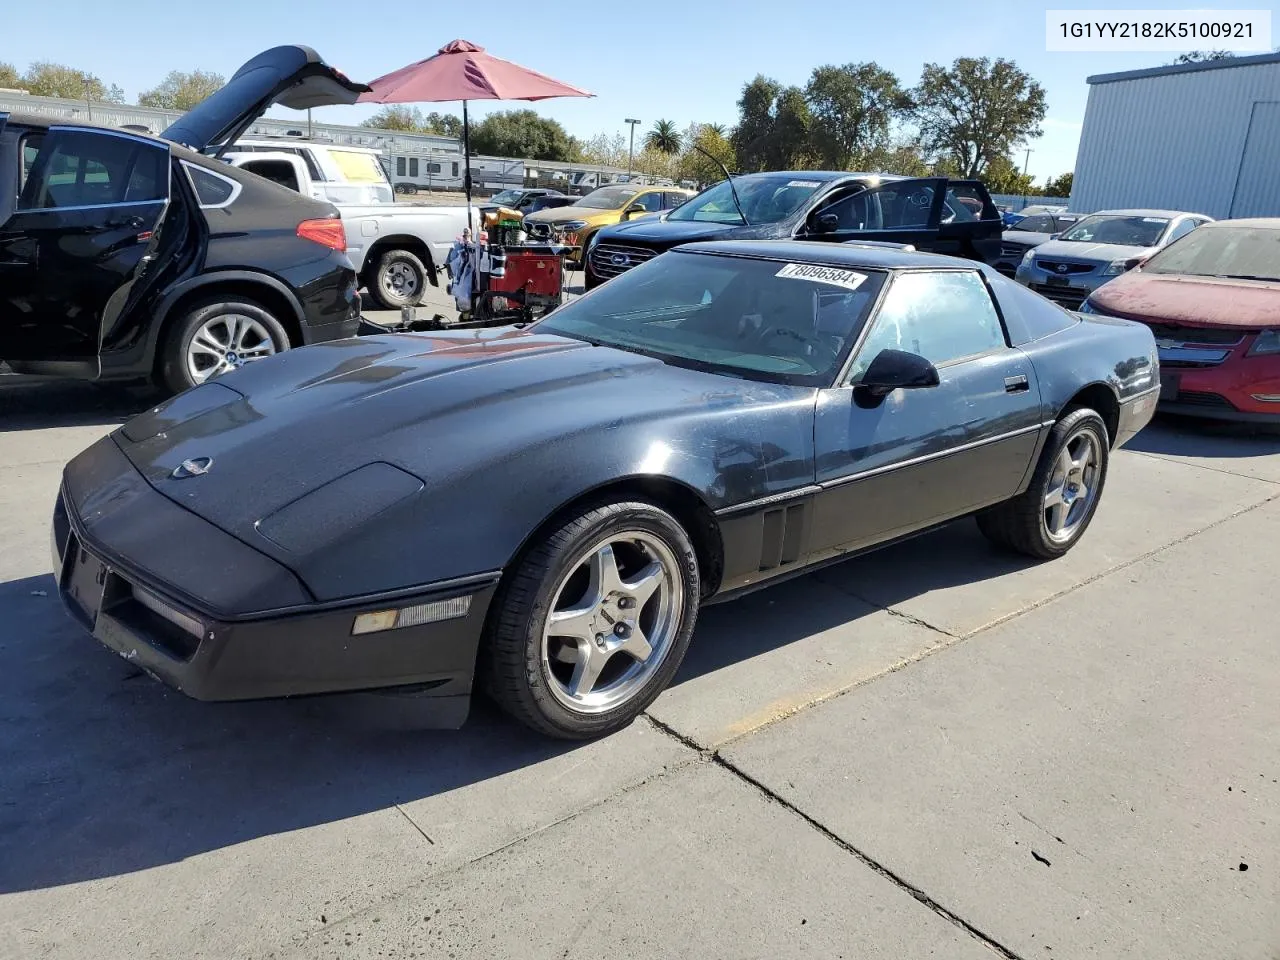
[[[979,513],[978,529],[1029,557],[1061,557],[1093,521],[1110,452],[1102,417],[1088,407],[1069,411],[1050,431],[1027,490]]]

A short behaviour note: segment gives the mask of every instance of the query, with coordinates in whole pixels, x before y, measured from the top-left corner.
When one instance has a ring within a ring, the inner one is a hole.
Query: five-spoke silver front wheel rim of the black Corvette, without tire
[[[644,689],[671,652],[686,602],[675,554],[641,530],[584,550],[552,596],[543,671],[552,695],[577,713],[603,713]]]

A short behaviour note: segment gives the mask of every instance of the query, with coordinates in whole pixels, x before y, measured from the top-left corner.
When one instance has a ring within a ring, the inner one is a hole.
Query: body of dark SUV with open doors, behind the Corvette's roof
[[[594,239],[593,251],[598,252],[586,257],[588,283],[594,285],[616,276],[682,243],[712,239],[806,239],[836,243],[873,239],[908,243],[920,251],[950,253],[980,262],[995,262],[1000,255],[1002,229],[1000,211],[986,187],[977,180],[799,170],[746,174],[735,177],[733,182],[746,188],[751,180],[763,179],[809,183],[817,188],[788,216],[772,223],[681,220],[678,216],[672,219],[672,215],[663,214],[658,218],[605,227]],[[901,201],[888,200],[881,204],[879,197],[887,197],[890,192],[905,196],[908,191],[918,191],[925,198],[925,206],[919,209],[919,215],[888,216],[887,211],[893,204],[899,207],[905,205]],[[682,206],[696,204],[698,198],[708,192],[691,197]],[[980,212],[974,216],[972,210],[960,202],[959,195],[980,205]],[[882,221],[876,229],[865,224],[859,227],[856,220],[845,215],[847,214],[845,207],[855,202],[855,198],[858,204],[867,209],[874,207],[882,215]],[[822,215],[831,211],[837,211],[832,214],[835,220],[822,224]]]

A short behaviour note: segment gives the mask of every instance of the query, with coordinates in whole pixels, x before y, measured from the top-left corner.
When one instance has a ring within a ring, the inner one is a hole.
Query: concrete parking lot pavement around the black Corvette
[[[60,609],[0,376],[0,957],[1280,957],[1280,436],[1157,420],[1068,557],[970,522],[708,609],[628,730],[197,704]]]

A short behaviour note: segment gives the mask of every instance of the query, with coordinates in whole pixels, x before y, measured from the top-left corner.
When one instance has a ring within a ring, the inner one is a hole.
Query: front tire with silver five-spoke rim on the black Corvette
[[[700,598],[689,535],[650,503],[603,503],[535,544],[494,600],[489,695],[548,736],[634,721],[680,668]]]

